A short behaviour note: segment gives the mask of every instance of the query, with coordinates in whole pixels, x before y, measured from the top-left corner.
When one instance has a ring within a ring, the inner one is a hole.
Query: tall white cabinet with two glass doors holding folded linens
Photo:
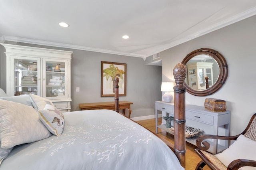
[[[36,94],[70,111],[72,51],[1,43],[6,49],[6,94]]]

